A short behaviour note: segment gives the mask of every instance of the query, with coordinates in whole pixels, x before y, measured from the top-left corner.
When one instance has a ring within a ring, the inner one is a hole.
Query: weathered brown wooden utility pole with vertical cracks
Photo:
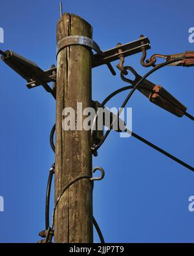
[[[63,14],[57,25],[57,41],[67,36],[92,39],[92,27],[79,16]],[[82,102],[83,109],[91,107],[91,49],[70,45],[59,51],[57,62],[55,200],[70,181],[92,175],[91,132],[62,128],[64,108],[76,112],[77,102]],[[63,194],[54,224],[55,242],[93,242],[91,181],[80,180]]]

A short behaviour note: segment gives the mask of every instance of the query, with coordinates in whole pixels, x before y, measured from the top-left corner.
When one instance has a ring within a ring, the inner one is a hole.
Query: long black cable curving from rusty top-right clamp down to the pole
[[[174,62],[178,62],[180,60],[184,60],[186,59],[186,57],[180,57],[180,58],[174,58],[173,60],[169,60],[167,62],[164,62],[162,64],[159,64],[158,66],[156,66],[155,68],[151,69],[149,72],[146,73],[146,75],[144,75],[137,83],[136,85],[133,87],[133,89],[129,92],[129,94],[127,95],[127,97],[125,98],[122,106],[120,107],[120,110],[118,111],[116,117],[114,118],[113,122],[111,123],[111,126],[109,128],[109,130],[107,130],[107,132],[105,133],[103,139],[100,141],[100,143],[98,143],[97,146],[95,146],[94,150],[98,150],[100,148],[100,146],[102,146],[102,144],[104,143],[105,139],[108,137],[109,133],[111,132],[111,129],[113,128],[113,124],[114,121],[116,120],[116,118],[119,117],[120,113],[122,112],[122,110],[125,108],[127,102],[129,101],[129,99],[131,98],[131,96],[133,95],[133,93],[135,92],[135,90],[137,89],[137,87],[140,85],[140,83],[142,83],[149,75],[151,75],[152,73],[154,73],[156,70],[161,69],[162,67],[165,67],[166,65],[172,64]]]

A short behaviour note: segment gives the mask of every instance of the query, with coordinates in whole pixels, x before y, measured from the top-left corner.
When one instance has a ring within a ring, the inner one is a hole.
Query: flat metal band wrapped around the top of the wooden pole
[[[61,39],[58,42],[57,55],[62,49],[70,45],[87,46],[96,51],[98,54],[103,55],[103,52],[100,50],[98,44],[95,43],[91,38],[87,38],[86,36],[67,36],[66,38]]]

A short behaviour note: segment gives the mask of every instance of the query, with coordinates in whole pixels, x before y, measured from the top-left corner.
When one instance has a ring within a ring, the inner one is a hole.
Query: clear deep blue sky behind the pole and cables
[[[159,3],[160,2],[160,3]],[[144,34],[151,41],[148,56],[193,50],[188,30],[193,24],[193,1],[63,1],[63,11],[77,14],[93,26],[93,38],[102,50],[127,43]],[[12,49],[48,69],[56,64],[58,1],[1,1],[0,27],[5,31],[3,50]],[[125,59],[140,75],[141,54]],[[117,64],[113,63],[115,66]],[[164,86],[194,115],[193,68],[164,67],[149,77]],[[41,87],[28,90],[25,80],[0,62],[0,242],[36,242],[44,228],[47,176],[54,162],[49,134],[55,122],[55,102]],[[126,86],[117,71],[106,66],[92,70],[92,99],[101,101]],[[119,107],[127,92],[107,104]],[[193,159],[193,122],[178,118],[149,101],[138,91],[133,108],[133,131],[190,165]],[[193,242],[194,173],[135,138],[120,139],[111,132],[100,148],[94,167],[105,178],[94,187],[94,216],[106,242]],[[53,200],[53,196],[52,196]],[[94,240],[98,242],[96,233]]]

